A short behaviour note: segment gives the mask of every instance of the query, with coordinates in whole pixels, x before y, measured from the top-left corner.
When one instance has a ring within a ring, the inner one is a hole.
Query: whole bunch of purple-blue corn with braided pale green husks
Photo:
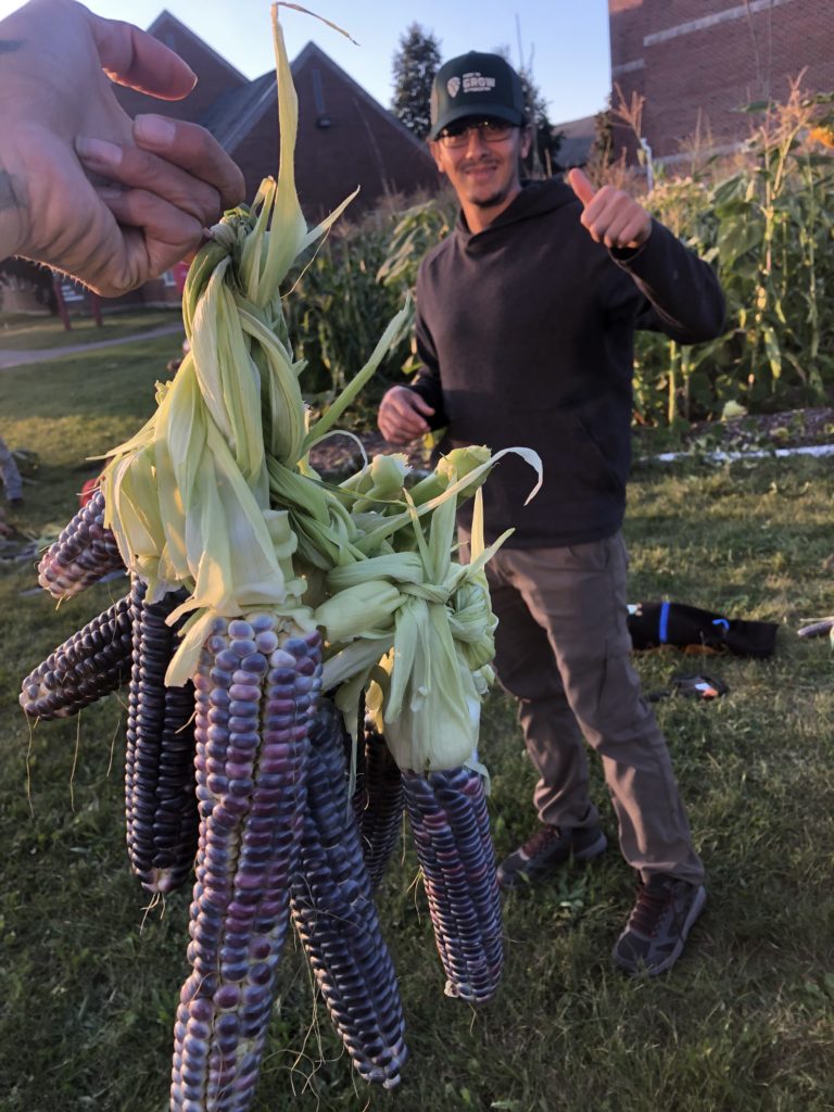
[[[193,872],[171,1112],[250,1106],[290,922],[357,1071],[398,1084],[403,1006],[374,891],[404,810],[446,992],[483,1003],[502,971],[474,752],[494,652],[483,567],[500,540],[484,546],[479,494],[471,562],[450,556],[456,504],[497,456],[458,449],[409,488],[389,457],[338,488],[311,470],[310,446],[408,314],[309,428],[280,284],[344,205],[307,228],[275,9],[274,28],[277,182],[212,229],[186,282],[189,354],[39,568],[59,599],[119,568],[131,589],[20,698],[32,718],[56,718],[129,686],[131,868],[152,893]]]

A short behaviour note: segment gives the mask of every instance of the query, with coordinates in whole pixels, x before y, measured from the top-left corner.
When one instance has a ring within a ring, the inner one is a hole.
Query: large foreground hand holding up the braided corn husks
[[[193,123],[131,121],[111,81],[179,100],[195,76],[129,23],[75,0],[0,22],[0,256],[21,255],[116,297],[199,247],[244,196],[239,169]]]

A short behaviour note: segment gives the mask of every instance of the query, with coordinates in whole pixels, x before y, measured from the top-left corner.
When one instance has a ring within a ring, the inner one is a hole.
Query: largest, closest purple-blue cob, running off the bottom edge
[[[258,1081],[304,823],[317,633],[218,619],[195,678],[200,831],[172,1112],[246,1112]]]

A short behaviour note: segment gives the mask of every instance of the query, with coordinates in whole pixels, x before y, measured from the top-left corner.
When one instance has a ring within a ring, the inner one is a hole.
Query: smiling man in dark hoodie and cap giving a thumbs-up
[[[523,508],[525,465],[506,458],[484,488],[496,672],[519,702],[538,771],[540,825],[499,867],[535,881],[606,838],[587,791],[583,737],[599,754],[637,901],[614,947],[629,973],[679,956],[705,900],[704,871],[666,743],[632,668],[620,535],[631,460],[634,331],[681,342],[721,334],[712,269],[627,193],[582,171],[522,182],[530,146],[518,75],[496,54],[446,62],[429,142],[460,202],[417,281],[411,386],[383,398],[379,428],[404,444],[446,427],[441,448],[535,448],[544,487]],[[467,520],[461,520],[464,534]]]

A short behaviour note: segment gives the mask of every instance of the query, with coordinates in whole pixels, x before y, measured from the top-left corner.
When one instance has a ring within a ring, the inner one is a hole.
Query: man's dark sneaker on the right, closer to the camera
[[[705,903],[703,884],[676,881],[674,876],[641,881],[637,902],[614,946],[614,964],[632,975],[654,976],[672,969]]]

